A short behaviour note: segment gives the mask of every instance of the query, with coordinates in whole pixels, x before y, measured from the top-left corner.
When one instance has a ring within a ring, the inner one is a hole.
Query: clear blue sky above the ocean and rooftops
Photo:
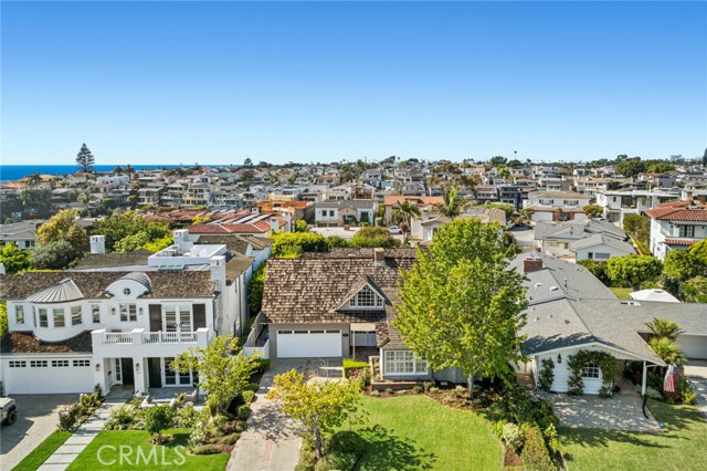
[[[701,155],[705,2],[8,2],[3,164]]]

